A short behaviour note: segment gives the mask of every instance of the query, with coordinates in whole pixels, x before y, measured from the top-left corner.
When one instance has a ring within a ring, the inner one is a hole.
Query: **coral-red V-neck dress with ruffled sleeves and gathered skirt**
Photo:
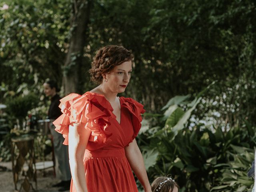
[[[90,135],[84,154],[88,192],[138,192],[124,148],[137,136],[143,105],[120,97],[120,124],[106,98],[97,93],[70,94],[60,100],[63,114],[53,124],[68,144],[71,123],[80,123]],[[71,181],[71,192],[76,189]]]

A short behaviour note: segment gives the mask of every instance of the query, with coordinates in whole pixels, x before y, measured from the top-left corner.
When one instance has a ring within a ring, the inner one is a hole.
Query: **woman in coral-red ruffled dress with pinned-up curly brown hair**
[[[145,110],[132,98],[117,96],[124,92],[131,72],[128,50],[103,47],[90,69],[91,79],[99,85],[60,100],[63,114],[54,125],[69,146],[71,192],[138,192],[132,170],[144,191],[151,192],[135,140]]]

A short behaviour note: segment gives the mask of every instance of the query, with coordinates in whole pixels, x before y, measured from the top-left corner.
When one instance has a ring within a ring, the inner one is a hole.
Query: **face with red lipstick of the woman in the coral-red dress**
[[[114,69],[105,74],[105,78],[107,79],[105,82],[103,78],[103,86],[111,92],[114,93],[122,93],[125,91],[132,72],[132,61],[126,61],[122,64],[115,66]],[[103,76],[104,77],[104,76]]]

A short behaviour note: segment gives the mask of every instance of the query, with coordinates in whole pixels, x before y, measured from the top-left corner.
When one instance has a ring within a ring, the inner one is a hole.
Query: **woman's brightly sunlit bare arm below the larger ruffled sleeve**
[[[69,126],[68,153],[70,171],[76,191],[87,192],[83,158],[91,132],[81,126],[81,124]]]

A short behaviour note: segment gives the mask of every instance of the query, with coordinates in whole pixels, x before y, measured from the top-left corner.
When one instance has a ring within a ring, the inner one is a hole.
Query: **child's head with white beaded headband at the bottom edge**
[[[179,186],[171,177],[158,177],[151,184],[152,192],[178,192]]]

